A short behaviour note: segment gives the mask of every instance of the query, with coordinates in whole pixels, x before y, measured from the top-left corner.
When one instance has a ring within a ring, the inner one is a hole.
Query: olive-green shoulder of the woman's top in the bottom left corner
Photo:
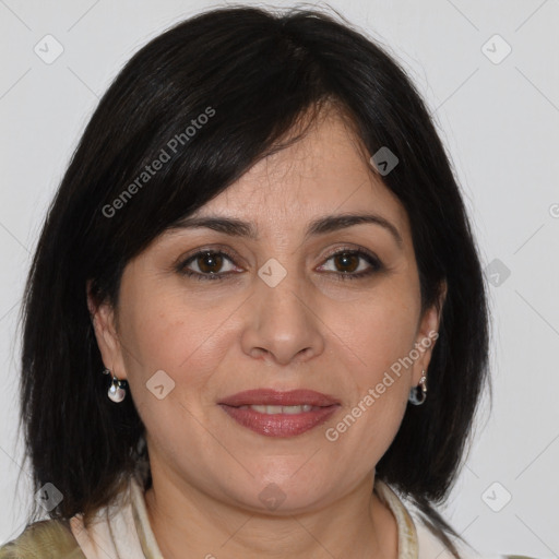
[[[69,526],[60,520],[29,524],[0,547],[0,559],[85,559]]]

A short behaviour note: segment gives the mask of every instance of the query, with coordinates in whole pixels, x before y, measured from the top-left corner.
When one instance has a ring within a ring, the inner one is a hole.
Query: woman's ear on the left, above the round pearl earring
[[[127,373],[122,359],[122,347],[116,328],[115,309],[109,302],[96,301],[92,295],[91,288],[92,282],[90,280],[86,284],[87,308],[92,318],[103,364],[111,373],[120,380],[124,380],[127,379]]]

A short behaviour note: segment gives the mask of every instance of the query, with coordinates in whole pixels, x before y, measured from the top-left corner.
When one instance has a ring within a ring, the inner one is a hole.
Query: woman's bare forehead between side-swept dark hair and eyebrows
[[[192,216],[235,216],[264,231],[357,212],[379,214],[408,235],[404,206],[373,171],[348,124],[331,111],[301,140],[259,160]]]

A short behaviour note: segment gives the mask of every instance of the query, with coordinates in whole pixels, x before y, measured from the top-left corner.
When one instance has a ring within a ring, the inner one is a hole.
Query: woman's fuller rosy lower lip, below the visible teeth
[[[266,437],[295,437],[323,424],[340,405],[321,407],[317,411],[300,414],[262,414],[254,409],[227,406],[219,404],[224,412],[238,424],[259,435]]]

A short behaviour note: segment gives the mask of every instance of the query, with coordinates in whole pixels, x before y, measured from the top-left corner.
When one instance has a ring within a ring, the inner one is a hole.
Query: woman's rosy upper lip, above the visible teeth
[[[228,406],[250,406],[250,405],[271,405],[271,406],[331,406],[340,402],[332,396],[316,392],[314,390],[289,390],[280,392],[274,389],[257,389],[237,392],[218,402]]]

